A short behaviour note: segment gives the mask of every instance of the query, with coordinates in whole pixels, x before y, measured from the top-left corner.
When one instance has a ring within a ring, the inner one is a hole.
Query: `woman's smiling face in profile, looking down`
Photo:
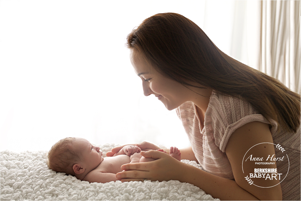
[[[131,53],[131,63],[142,80],[144,96],[154,94],[168,110],[173,110],[189,100],[189,92],[185,86],[163,77],[138,55]]]

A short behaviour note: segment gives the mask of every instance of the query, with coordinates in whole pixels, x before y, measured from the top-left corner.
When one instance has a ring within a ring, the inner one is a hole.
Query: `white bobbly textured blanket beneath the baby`
[[[100,145],[104,152],[115,144]],[[192,184],[179,181],[80,181],[49,170],[46,151],[1,152],[1,200],[219,200]],[[194,161],[182,160],[201,168]]]

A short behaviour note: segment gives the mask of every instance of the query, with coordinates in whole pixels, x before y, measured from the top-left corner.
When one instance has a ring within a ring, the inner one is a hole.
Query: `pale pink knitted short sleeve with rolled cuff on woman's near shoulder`
[[[252,121],[270,124],[249,102],[213,92],[206,110],[204,126],[207,131],[213,132],[215,144],[222,152],[225,152],[231,134]],[[278,125],[274,120],[271,123],[270,130],[273,135]]]

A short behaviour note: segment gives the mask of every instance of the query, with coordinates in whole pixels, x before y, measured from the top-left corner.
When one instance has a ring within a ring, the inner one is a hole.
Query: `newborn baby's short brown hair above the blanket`
[[[81,159],[81,156],[71,147],[75,139],[75,137],[66,137],[51,147],[47,156],[49,169],[75,176],[73,165]]]

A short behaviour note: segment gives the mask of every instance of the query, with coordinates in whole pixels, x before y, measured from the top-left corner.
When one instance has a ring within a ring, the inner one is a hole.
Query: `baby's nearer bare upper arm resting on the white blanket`
[[[117,181],[116,174],[113,173],[104,173],[99,171],[89,172],[82,181],[88,181],[89,183],[107,183],[110,181]]]

